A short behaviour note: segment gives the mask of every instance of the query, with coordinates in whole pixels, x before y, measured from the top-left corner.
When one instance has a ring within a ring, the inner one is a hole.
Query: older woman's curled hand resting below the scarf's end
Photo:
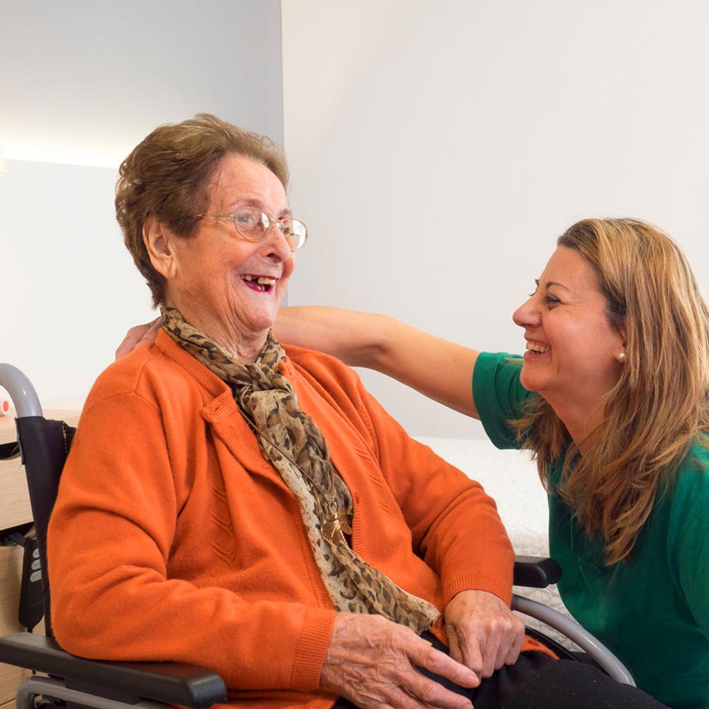
[[[515,664],[525,625],[498,596],[461,591],[445,609],[451,657],[486,678],[505,664]]]

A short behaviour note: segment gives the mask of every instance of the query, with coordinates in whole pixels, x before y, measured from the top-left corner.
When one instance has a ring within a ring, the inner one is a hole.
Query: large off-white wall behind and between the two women
[[[702,0],[283,0],[291,304],[519,351],[514,308],[584,216],[674,235],[709,286]],[[481,435],[378,375],[414,435]]]

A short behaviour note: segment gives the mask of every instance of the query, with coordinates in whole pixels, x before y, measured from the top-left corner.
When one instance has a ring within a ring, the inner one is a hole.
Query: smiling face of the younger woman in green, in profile
[[[575,250],[557,248],[513,320],[527,341],[522,384],[554,408],[590,412],[618,381],[623,337],[610,325],[596,274]]]

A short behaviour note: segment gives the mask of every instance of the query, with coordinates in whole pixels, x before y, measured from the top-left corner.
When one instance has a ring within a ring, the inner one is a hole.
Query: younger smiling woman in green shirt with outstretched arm
[[[535,283],[513,316],[523,358],[332,309],[287,308],[279,334],[479,418],[500,448],[532,451],[566,607],[645,691],[707,709],[707,306],[674,242],[630,219],[571,226]]]

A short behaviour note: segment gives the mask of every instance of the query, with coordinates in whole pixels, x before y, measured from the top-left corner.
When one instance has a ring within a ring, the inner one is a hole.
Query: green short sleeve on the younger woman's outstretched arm
[[[519,448],[509,421],[518,418],[530,392],[520,384],[522,359],[481,352],[473,370],[473,399],[483,428],[498,448]]]

